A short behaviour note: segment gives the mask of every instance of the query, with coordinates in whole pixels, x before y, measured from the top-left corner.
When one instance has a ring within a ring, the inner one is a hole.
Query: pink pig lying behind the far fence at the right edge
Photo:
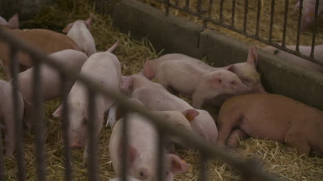
[[[295,50],[296,45],[286,45],[288,49]],[[304,55],[310,55],[311,54],[311,46],[302,46],[300,45],[300,52]],[[323,67],[321,65],[318,65],[316,63],[313,63],[311,61],[308,61],[304,58],[300,58],[298,56],[295,56],[293,54],[290,54],[288,52],[284,52],[282,50],[278,50],[275,47],[272,46],[266,46],[263,48],[265,52],[268,52],[270,54],[274,54],[275,56],[279,56],[283,58],[286,61],[290,61],[293,64],[300,65],[302,67],[306,67],[309,70],[314,70],[317,72],[323,72]],[[314,57],[317,61],[321,61],[323,63],[323,45],[316,45],[314,49]]]

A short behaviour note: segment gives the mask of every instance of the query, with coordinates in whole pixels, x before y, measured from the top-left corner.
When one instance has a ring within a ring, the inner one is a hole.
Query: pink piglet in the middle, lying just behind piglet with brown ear
[[[122,78],[122,89],[129,90],[132,98],[137,98],[148,109],[152,111],[186,111],[194,109],[185,100],[170,94],[159,83],[149,81],[141,73]],[[202,109],[194,109],[198,114],[192,111],[189,123],[197,136],[211,144],[217,140],[217,126],[215,121],[208,113]]]

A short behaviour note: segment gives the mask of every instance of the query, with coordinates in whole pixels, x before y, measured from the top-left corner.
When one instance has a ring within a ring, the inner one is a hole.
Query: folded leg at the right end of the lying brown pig
[[[293,148],[295,148],[299,155],[304,154],[306,156],[309,156],[309,153],[311,152],[309,142],[300,131],[295,131],[293,129],[287,131],[285,142],[288,145],[287,151],[292,151]]]

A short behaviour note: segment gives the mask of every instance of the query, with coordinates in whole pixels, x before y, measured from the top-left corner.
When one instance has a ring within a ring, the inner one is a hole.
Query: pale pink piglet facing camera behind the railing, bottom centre
[[[141,105],[139,100],[132,99],[132,103]],[[158,115],[157,115],[158,116]],[[157,180],[157,130],[150,121],[140,114],[128,114],[128,175],[146,181]],[[115,123],[109,142],[109,152],[113,169],[117,177],[121,176],[122,159],[122,125],[124,119]],[[190,164],[187,164],[177,156],[166,153],[164,180],[172,181],[177,173],[187,171]]]

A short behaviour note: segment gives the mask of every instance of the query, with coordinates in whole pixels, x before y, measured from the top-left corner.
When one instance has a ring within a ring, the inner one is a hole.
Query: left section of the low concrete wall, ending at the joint
[[[155,50],[179,52],[198,56],[199,32],[195,23],[186,23],[176,17],[166,17],[164,12],[136,0],[121,1],[115,6],[112,19],[121,32],[130,31],[137,38],[148,36]]]

